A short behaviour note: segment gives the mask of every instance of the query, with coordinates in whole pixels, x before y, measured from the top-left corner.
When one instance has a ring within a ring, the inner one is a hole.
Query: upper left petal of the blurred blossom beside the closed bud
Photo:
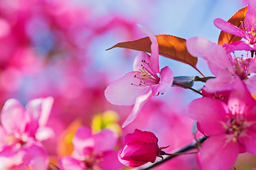
[[[95,141],[92,138],[92,131],[90,128],[85,126],[78,128],[72,142],[75,150],[81,155],[83,154],[85,147],[95,147]]]

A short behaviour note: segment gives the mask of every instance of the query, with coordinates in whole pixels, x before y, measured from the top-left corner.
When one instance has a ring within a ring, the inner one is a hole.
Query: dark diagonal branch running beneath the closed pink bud
[[[206,140],[207,140],[207,137],[203,136],[203,137],[200,137],[200,138],[198,139],[198,142],[199,142],[200,144],[202,144],[202,143],[205,142]],[[195,141],[191,142],[190,144],[186,145],[186,147],[183,147],[183,148],[181,148],[181,149],[178,149],[176,152],[174,152],[175,155],[171,155],[171,156],[169,156],[169,157],[166,157],[165,159],[163,159],[163,160],[161,160],[161,161],[159,161],[159,162],[156,162],[156,163],[152,164],[151,166],[148,166],[148,167],[146,167],[146,168],[144,168],[144,169],[138,169],[138,170],[148,170],[148,169],[154,168],[154,167],[156,167],[156,166],[158,166],[158,165],[160,165],[160,164],[163,164],[164,162],[166,162],[166,161],[168,161],[168,160],[170,160],[170,159],[172,159],[172,158],[174,158],[174,157],[177,157],[177,156],[179,155],[178,153],[188,152],[188,151],[190,151],[190,150],[192,150],[192,149],[196,149],[197,147],[198,147],[198,144],[196,143],[196,140],[195,140]],[[134,169],[134,170],[135,170],[135,169]]]

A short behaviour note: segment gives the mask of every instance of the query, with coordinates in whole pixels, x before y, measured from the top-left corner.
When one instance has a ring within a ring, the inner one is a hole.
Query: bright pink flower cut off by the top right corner
[[[235,50],[256,50],[256,1],[250,1],[245,15],[245,23],[242,23],[242,30],[236,26],[233,26],[231,23],[224,21],[223,19],[216,18],[214,20],[214,25],[220,30],[223,30],[227,33],[237,35],[241,38],[245,38],[245,41],[236,41],[229,44],[223,45],[228,52],[233,52]]]

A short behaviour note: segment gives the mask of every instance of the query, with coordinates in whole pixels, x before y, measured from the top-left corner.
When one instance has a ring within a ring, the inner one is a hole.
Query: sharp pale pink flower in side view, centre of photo
[[[137,117],[142,107],[152,96],[167,91],[173,81],[173,73],[169,67],[164,67],[159,72],[159,48],[156,37],[145,27],[139,26],[149,35],[151,40],[151,56],[142,52],[134,60],[134,72],[129,72],[112,82],[105,90],[107,101],[112,104],[131,106],[132,113],[125,120],[124,128]]]

